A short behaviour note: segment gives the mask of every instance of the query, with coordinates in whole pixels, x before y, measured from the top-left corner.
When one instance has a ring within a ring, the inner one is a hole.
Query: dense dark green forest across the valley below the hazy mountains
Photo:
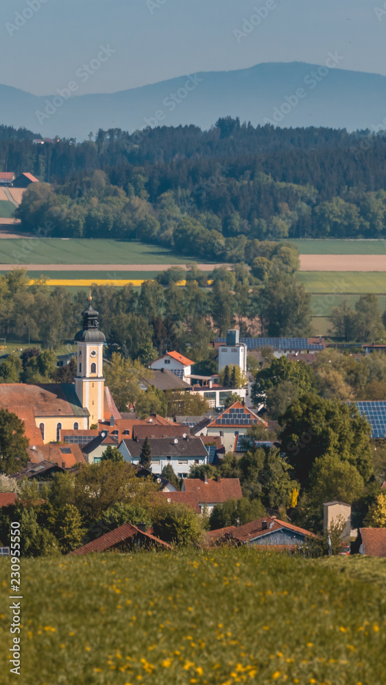
[[[138,238],[232,262],[253,261],[256,240],[385,236],[381,134],[254,128],[228,117],[206,132],[33,138],[0,127],[0,165],[51,184],[29,190],[19,209],[25,228],[50,236]]]

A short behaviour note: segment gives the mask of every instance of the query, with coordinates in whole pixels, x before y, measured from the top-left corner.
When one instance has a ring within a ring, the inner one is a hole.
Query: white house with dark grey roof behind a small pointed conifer
[[[122,440],[119,445],[125,461],[134,465],[145,440]],[[186,478],[191,466],[208,463],[208,452],[200,438],[149,438],[152,452],[152,472],[160,475],[164,466],[172,467],[178,478]]]

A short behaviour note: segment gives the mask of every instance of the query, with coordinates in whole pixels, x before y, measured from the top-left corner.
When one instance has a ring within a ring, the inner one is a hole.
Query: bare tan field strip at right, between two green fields
[[[300,271],[386,271],[384,255],[300,255]]]

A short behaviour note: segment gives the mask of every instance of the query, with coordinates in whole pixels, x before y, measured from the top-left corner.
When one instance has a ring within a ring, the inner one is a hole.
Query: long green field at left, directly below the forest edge
[[[136,240],[64,238],[4,238],[0,240],[0,264],[186,264],[157,245]]]

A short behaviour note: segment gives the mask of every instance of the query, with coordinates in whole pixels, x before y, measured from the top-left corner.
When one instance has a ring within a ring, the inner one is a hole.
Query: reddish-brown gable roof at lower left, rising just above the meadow
[[[91,552],[125,552],[136,549],[171,549],[163,540],[156,538],[131,523],[123,523],[110,533],[101,535],[91,543],[74,549],[70,554],[89,554]]]

